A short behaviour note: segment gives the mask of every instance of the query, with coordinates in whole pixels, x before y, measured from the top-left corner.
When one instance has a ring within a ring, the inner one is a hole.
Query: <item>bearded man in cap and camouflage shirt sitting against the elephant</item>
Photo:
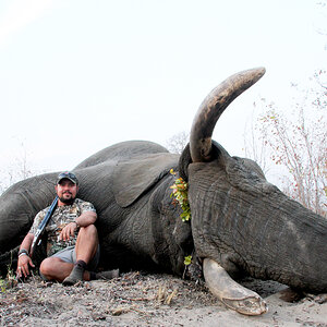
[[[118,277],[118,270],[94,272],[99,262],[98,233],[94,225],[97,214],[93,204],[76,198],[78,181],[75,174],[68,171],[60,173],[55,189],[58,205],[46,227],[47,258],[40,264],[40,276],[65,286],[81,280]],[[31,267],[35,267],[29,257],[31,245],[48,209],[36,215],[21,244],[16,270],[20,278],[27,277]]]

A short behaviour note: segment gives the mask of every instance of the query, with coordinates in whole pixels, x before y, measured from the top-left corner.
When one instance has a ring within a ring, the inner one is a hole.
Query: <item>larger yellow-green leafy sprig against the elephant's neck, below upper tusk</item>
[[[170,173],[175,175],[173,169],[170,169]],[[174,199],[179,203],[179,205],[183,210],[180,217],[182,218],[183,221],[190,220],[191,208],[187,198],[187,190],[189,190],[187,183],[182,178],[179,178],[174,180],[174,184],[170,186],[170,189],[172,189],[172,193],[170,194],[170,197],[174,196]]]

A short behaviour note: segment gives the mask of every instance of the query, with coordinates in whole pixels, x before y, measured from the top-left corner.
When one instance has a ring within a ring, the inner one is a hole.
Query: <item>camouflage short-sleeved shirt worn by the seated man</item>
[[[29,230],[31,233],[35,234],[38,226],[45,218],[49,207],[39,211],[34,219],[33,226]],[[74,221],[77,217],[80,217],[85,211],[96,211],[95,207],[92,203],[82,201],[80,198],[75,198],[72,205],[65,206],[57,206],[55,213],[52,214],[47,227],[47,255],[50,256],[58,251],[61,251],[70,245],[75,245],[78,229],[75,230],[75,237],[71,238],[69,241],[60,241],[59,235],[61,230],[69,225],[70,222]]]

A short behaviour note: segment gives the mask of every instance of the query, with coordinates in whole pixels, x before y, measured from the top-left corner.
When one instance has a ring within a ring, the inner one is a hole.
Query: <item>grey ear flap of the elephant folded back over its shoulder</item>
[[[119,162],[113,171],[112,190],[117,203],[128,207],[157,183],[171,168],[177,169],[179,155],[153,154]]]

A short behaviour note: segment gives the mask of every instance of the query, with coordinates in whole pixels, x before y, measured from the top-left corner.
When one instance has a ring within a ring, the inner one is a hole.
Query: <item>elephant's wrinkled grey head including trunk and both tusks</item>
[[[327,219],[268,183],[256,162],[231,157],[211,141],[227,106],[264,73],[241,72],[215,88],[198,109],[183,154],[192,161],[184,175],[206,281],[228,306],[245,314],[262,313],[265,304],[229,278],[239,271],[295,289],[327,291]]]

